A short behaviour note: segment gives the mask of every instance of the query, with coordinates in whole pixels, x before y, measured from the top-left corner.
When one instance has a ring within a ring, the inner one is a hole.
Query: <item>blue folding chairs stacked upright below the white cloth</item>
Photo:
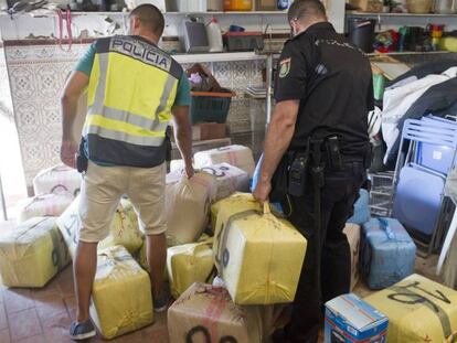
[[[410,146],[402,153],[406,142]],[[431,254],[440,245],[447,211],[444,187],[455,168],[457,122],[437,117],[405,121],[393,184],[393,217]]]

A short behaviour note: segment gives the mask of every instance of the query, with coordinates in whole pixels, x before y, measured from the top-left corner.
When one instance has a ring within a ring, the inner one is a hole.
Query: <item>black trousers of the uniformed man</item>
[[[291,213],[288,219],[307,238],[308,248],[283,342],[317,342],[325,302],[350,291],[351,253],[343,228],[366,180],[363,161],[343,162],[338,171],[325,171],[320,232],[316,232],[315,225],[311,178],[308,176],[306,195],[289,199]]]

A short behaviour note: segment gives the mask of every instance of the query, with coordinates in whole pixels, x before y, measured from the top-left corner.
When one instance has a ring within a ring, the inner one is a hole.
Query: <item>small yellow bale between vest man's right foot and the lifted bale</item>
[[[211,282],[213,239],[168,248],[167,270],[171,294],[181,296],[194,282]]]

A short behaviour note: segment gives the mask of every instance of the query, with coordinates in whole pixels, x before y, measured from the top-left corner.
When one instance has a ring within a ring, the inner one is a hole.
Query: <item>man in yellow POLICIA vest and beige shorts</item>
[[[162,288],[167,256],[164,160],[166,129],[171,119],[187,176],[193,176],[190,86],[182,67],[157,46],[163,15],[152,4],[141,4],[131,11],[129,24],[131,35],[99,39],[92,44],[62,97],[61,159],[86,170],[74,259],[77,311],[70,329],[74,340],[95,335],[88,308],[97,243],[108,235],[124,194],[131,200],[146,235],[155,310],[167,309],[169,298]],[[78,97],[85,89],[88,107],[79,149],[72,132]]]

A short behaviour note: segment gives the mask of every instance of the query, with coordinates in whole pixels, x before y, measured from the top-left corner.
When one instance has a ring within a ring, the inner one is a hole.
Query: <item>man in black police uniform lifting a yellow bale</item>
[[[294,37],[279,60],[254,196],[265,202],[272,184],[284,187],[275,180],[287,180],[284,212],[308,240],[291,320],[275,341],[317,342],[323,303],[350,290],[342,231],[370,161],[373,85],[368,57],[336,33],[319,0],[297,0],[288,20]]]

